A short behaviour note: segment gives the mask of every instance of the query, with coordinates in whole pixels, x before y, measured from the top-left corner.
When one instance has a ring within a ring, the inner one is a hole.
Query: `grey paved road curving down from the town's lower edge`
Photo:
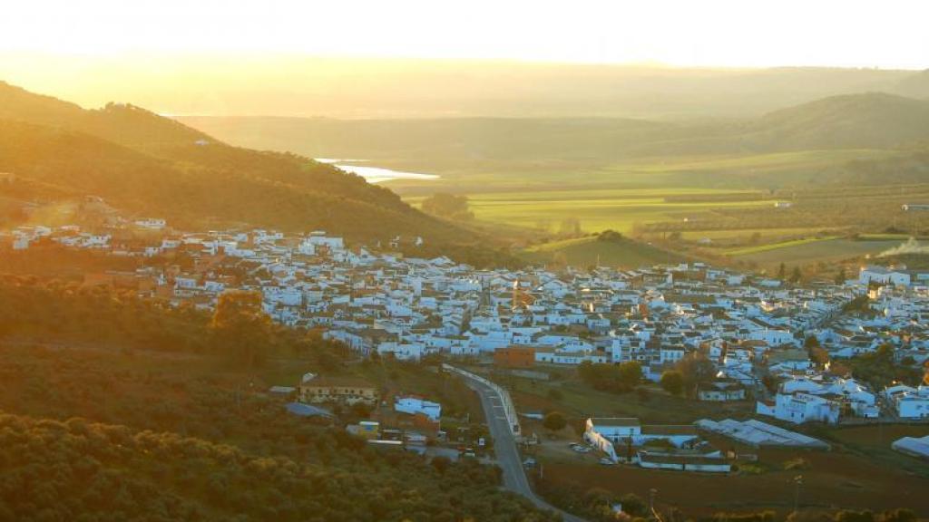
[[[585,522],[582,518],[557,509],[532,492],[529,478],[526,477],[522,461],[519,458],[517,442],[510,433],[509,426],[506,422],[502,399],[488,385],[468,378],[465,378],[465,382],[471,389],[477,391],[478,396],[480,396],[481,407],[484,409],[484,415],[487,417],[487,424],[491,428],[493,450],[497,454],[497,465],[504,471],[504,487],[519,493],[543,509],[549,509],[561,514],[565,522]]]

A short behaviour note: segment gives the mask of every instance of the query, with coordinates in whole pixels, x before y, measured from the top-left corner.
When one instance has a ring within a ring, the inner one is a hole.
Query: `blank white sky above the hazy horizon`
[[[28,0],[0,52],[929,67],[924,0]]]

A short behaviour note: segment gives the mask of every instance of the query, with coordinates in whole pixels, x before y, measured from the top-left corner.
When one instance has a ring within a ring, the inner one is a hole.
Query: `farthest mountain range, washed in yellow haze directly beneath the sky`
[[[131,100],[171,114],[341,119],[754,118],[818,98],[887,92],[929,98],[922,72],[871,68],[678,68],[298,56],[101,61],[31,57],[33,91],[83,106]],[[0,77],[16,78],[0,51]],[[106,78],[101,82],[100,78]],[[178,96],[183,93],[183,96]]]

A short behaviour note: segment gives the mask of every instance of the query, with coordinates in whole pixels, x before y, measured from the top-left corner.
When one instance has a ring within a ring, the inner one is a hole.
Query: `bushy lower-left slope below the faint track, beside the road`
[[[0,350],[0,519],[544,519],[493,468],[378,453],[195,361]]]

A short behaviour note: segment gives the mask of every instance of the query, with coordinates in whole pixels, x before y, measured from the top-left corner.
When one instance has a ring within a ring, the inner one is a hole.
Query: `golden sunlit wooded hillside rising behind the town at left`
[[[6,84],[0,85],[0,171],[177,225],[324,228],[359,240],[475,239],[330,165],[231,147],[130,105],[85,111]]]

